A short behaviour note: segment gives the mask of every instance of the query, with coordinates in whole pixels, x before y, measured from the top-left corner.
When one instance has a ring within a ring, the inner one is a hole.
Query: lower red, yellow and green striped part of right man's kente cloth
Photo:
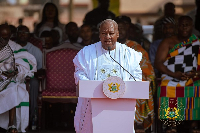
[[[199,84],[200,85],[200,84]],[[165,110],[163,108],[180,108],[181,120],[200,120],[200,88],[199,86],[185,87],[158,87],[159,97],[159,116],[160,119],[165,118]]]

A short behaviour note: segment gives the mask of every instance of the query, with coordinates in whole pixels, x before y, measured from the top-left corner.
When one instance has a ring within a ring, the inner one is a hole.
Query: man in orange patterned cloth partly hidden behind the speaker
[[[149,99],[137,99],[136,104],[135,121],[137,126],[135,127],[135,130],[136,133],[137,131],[139,132],[139,130],[143,130],[144,132],[144,130],[151,126],[154,118],[153,93],[156,90],[155,74],[148,57],[148,53],[137,42],[128,40],[128,29],[126,23],[123,20],[118,20],[117,23],[119,29],[118,41],[133,48],[135,51],[142,53],[142,60],[140,63],[140,67],[142,69],[142,80],[153,83],[153,86],[149,86]]]

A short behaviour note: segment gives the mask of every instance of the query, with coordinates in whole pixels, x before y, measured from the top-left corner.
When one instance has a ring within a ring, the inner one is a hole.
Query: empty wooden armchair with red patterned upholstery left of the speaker
[[[73,58],[78,50],[66,48],[66,45],[43,49],[44,77],[40,77],[39,89],[39,130],[42,122],[43,102],[77,103],[76,85],[74,80],[75,67]]]

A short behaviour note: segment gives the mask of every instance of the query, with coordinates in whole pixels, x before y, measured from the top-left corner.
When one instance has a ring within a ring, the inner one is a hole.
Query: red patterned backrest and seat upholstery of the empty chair
[[[43,98],[76,96],[73,59],[77,50],[59,49],[46,54],[46,89]]]

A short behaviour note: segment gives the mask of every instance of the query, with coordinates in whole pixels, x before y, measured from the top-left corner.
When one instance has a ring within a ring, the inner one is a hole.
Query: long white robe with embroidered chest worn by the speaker
[[[139,65],[142,58],[140,52],[136,52],[125,44],[116,42],[116,48],[111,50],[110,54],[134,76],[136,81],[142,80],[142,70]],[[124,81],[134,80],[110,58],[109,52],[102,48],[101,42],[85,46],[75,56],[73,62],[76,84],[79,80],[105,80],[110,76],[118,76]],[[91,113],[91,99],[78,98],[74,117],[74,126],[77,133],[93,132]]]

